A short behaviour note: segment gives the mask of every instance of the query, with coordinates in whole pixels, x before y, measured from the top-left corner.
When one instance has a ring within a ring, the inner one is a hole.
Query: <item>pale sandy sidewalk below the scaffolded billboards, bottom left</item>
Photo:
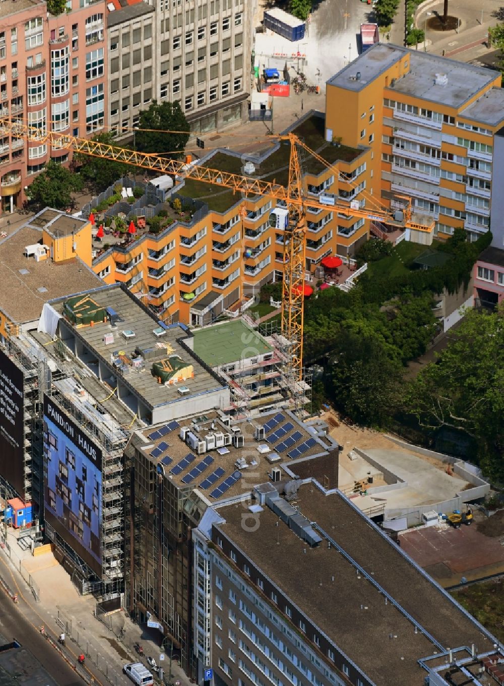
[[[8,549],[0,552],[0,577],[19,596],[18,608],[29,622],[54,641],[64,632],[66,643],[62,649],[65,659],[75,665],[77,656],[86,655],[86,672],[99,686],[131,686],[123,674],[123,665],[153,657],[164,668],[165,683],[189,686],[189,677],[176,661],[172,663],[173,677],[169,679],[170,644],[165,642],[164,664],[160,663],[162,636],[156,630],[134,624],[121,611],[110,615],[96,615],[96,600],[92,595],[81,596],[71,582],[67,571],[61,567],[51,552],[33,557],[17,545],[12,532],[8,533]],[[22,573],[21,571],[22,570]],[[25,579],[29,578],[40,601],[36,602],[34,591]],[[134,651],[134,644],[143,646],[144,656]],[[154,675],[156,678],[156,675]],[[177,684],[178,682],[178,684]]]

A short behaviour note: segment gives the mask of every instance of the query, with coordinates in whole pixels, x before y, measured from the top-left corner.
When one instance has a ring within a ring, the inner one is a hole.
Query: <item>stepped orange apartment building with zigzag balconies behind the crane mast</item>
[[[329,168],[306,156],[304,183],[314,200],[327,209],[309,209],[307,276],[326,255],[352,257],[368,239],[369,222],[344,217],[331,202],[357,201],[370,187],[370,149],[324,140],[324,118],[308,113],[294,130]],[[287,183],[290,147],[279,143],[254,160],[261,178]],[[202,163],[214,169],[243,173],[248,160],[232,152],[214,152]],[[175,191],[197,200],[200,208],[190,223],[174,222],[154,235],[143,233],[126,246],[112,246],[93,261],[106,283],[126,283],[161,318],[184,324],[207,324],[223,310],[235,310],[260,287],[283,276],[285,208],[275,198],[243,199],[232,191],[186,179]],[[97,247],[97,246],[95,246]]]

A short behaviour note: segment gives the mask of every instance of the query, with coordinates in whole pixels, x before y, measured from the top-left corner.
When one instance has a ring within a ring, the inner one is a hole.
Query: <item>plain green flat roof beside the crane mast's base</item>
[[[264,355],[273,350],[257,331],[241,319],[193,331],[193,349],[211,367],[237,362],[243,356]]]

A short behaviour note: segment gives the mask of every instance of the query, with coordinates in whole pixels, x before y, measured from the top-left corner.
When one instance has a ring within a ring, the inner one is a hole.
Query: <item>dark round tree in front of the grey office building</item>
[[[178,133],[180,132],[180,133]],[[165,154],[176,159],[189,140],[189,124],[178,102],[158,104],[153,100],[148,110],[140,113],[136,147],[141,152]]]

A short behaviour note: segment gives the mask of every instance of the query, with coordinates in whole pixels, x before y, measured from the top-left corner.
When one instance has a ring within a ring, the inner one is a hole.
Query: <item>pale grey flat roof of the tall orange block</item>
[[[349,91],[361,91],[383,71],[404,57],[409,58],[409,72],[403,78],[397,79],[394,86],[389,85],[388,88],[448,107],[463,106],[470,97],[496,78],[496,73],[492,69],[465,64],[432,53],[406,49],[398,45],[376,43],[330,78],[327,84],[346,88]],[[360,80],[356,78],[358,71],[361,74]],[[444,86],[437,85],[435,83],[437,74],[446,74],[448,83]],[[493,110],[495,107],[492,103],[492,106],[488,106],[488,110]],[[483,105],[481,109],[483,111]],[[464,116],[468,115],[464,114]],[[483,116],[482,112],[479,112],[479,116]]]

